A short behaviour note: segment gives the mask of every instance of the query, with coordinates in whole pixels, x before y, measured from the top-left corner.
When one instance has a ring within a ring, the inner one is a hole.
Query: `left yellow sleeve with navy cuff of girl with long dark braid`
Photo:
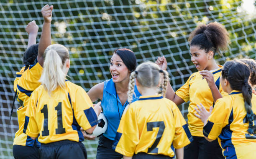
[[[220,98],[216,101],[212,114],[208,117],[203,128],[203,134],[208,139],[215,140],[220,135],[223,127],[228,124],[228,114],[231,110],[227,100]]]

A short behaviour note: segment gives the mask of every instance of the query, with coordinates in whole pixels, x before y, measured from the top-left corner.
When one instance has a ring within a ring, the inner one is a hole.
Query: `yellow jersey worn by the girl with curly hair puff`
[[[224,97],[228,94],[224,92],[221,87],[220,75],[222,66],[219,65],[219,67],[220,68],[213,71],[212,74],[216,86],[220,90],[221,95]],[[194,115],[194,113],[196,113],[195,107],[197,107],[197,104],[202,103],[207,111],[209,111],[210,106],[214,106],[212,92],[210,90],[210,87],[208,86],[206,79],[202,78],[202,75],[200,75],[200,71],[195,72],[189,77],[187,82],[175,93],[185,102],[190,102],[188,107],[187,122],[192,136],[203,137],[202,129],[204,124],[199,118]]]

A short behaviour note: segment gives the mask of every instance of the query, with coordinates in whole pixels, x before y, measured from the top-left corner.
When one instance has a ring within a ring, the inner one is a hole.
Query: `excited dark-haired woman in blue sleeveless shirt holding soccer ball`
[[[109,67],[112,78],[96,84],[88,92],[92,102],[101,100],[103,113],[108,119],[108,128],[99,139],[96,159],[121,159],[123,157],[112,149],[112,144],[123,111],[128,105],[129,77],[131,72],[135,70],[136,64],[136,57],[131,50],[125,48],[115,50],[110,59]],[[133,100],[136,100],[141,95],[136,86],[134,92]],[[84,132],[83,135],[85,139],[95,139]]]

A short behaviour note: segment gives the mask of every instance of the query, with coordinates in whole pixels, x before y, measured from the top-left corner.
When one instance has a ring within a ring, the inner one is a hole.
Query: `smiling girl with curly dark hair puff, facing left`
[[[194,141],[184,147],[184,159],[223,159],[218,141],[208,142],[203,137],[203,123],[194,115],[194,108],[202,103],[209,111],[217,99],[227,95],[220,84],[222,66],[216,64],[214,56],[216,52],[225,50],[229,41],[223,25],[217,22],[199,25],[189,36],[191,61],[199,72],[190,75],[176,92],[168,82],[166,98],[177,105],[190,101],[187,122]],[[158,57],[156,64],[166,70],[164,57]]]

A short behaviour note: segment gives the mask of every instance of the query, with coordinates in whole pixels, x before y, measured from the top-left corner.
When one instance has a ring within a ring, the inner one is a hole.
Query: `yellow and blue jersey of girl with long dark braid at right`
[[[256,95],[252,96],[254,113],[253,128],[256,129]],[[256,134],[250,135],[246,119],[243,94],[233,90],[228,96],[216,101],[208,117],[203,133],[209,139],[216,139],[226,159],[254,159],[256,157]]]

